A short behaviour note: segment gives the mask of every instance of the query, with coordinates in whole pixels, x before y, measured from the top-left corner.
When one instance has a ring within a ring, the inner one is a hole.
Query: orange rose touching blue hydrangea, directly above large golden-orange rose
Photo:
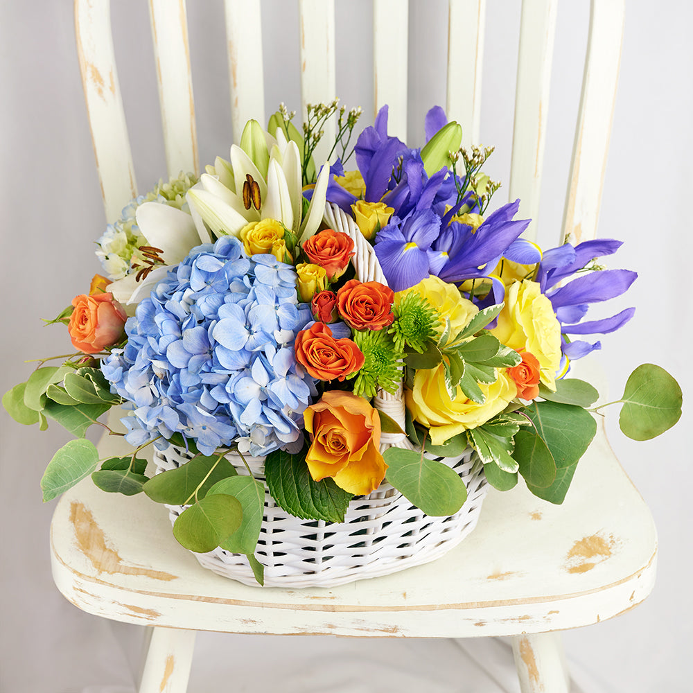
[[[322,322],[298,333],[294,351],[296,360],[308,374],[319,380],[337,378],[342,381],[356,373],[365,362],[354,342],[346,338],[335,340],[332,330]]]

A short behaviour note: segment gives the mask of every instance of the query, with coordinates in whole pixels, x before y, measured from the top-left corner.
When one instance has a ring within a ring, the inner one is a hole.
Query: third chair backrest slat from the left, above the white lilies
[[[260,0],[226,0],[226,35],[231,80],[231,128],[240,143],[250,119],[265,120]]]

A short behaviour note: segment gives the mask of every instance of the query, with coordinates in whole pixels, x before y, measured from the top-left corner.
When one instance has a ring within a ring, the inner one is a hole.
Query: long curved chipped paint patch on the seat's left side
[[[73,500],[70,504],[70,523],[75,532],[75,541],[82,554],[94,565],[98,572],[109,575],[115,573],[125,575],[143,575],[155,580],[175,580],[176,575],[160,570],[144,568],[141,565],[123,563],[116,550],[106,541],[103,530],[96,524],[91,511],[82,503]]]

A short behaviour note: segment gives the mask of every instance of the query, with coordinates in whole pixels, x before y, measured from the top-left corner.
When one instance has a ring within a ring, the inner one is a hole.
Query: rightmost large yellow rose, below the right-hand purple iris
[[[498,316],[498,326],[491,334],[511,349],[533,353],[541,367],[541,382],[556,389],[561,324],[536,281],[525,279],[511,284],[505,292],[505,308]]]

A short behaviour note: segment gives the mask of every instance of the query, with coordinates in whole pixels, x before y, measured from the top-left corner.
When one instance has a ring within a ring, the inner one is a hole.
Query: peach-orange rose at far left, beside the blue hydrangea
[[[72,344],[80,351],[97,353],[117,344],[125,335],[123,327],[128,317],[112,294],[81,294],[72,299],[72,305],[75,309],[67,331]]]

